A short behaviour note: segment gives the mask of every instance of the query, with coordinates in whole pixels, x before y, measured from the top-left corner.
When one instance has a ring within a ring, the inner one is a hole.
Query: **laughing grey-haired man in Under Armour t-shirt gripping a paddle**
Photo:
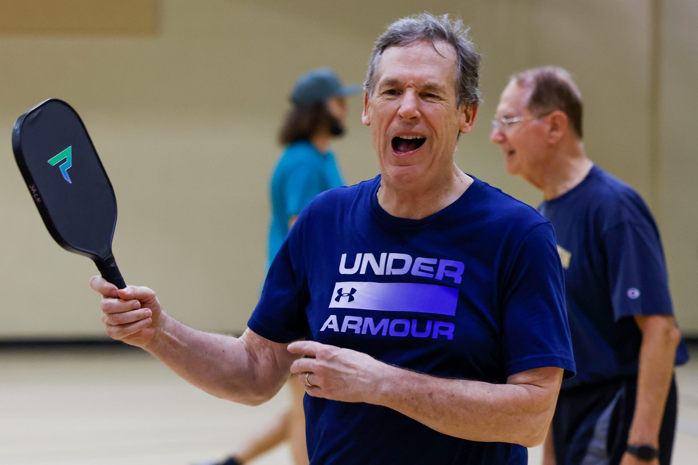
[[[446,16],[378,38],[362,121],[380,176],[304,208],[242,337],[94,277],[107,333],[235,402],[300,374],[313,465],[525,464],[574,361],[551,225],[454,164],[479,61]]]

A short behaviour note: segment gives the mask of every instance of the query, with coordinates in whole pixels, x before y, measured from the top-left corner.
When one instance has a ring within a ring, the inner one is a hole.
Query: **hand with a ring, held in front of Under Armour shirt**
[[[307,357],[291,365],[291,373],[299,374],[298,381],[308,395],[342,402],[375,404],[380,395],[381,381],[395,367],[380,362],[366,353],[341,349],[315,341],[296,341],[288,344],[288,351]]]

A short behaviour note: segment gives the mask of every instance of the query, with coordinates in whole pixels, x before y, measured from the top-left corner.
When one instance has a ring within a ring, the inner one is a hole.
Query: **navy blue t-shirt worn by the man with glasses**
[[[565,268],[577,376],[563,389],[637,373],[633,315],[673,314],[659,231],[641,197],[596,165],[538,211],[555,227]],[[676,363],[688,351],[678,346]]]

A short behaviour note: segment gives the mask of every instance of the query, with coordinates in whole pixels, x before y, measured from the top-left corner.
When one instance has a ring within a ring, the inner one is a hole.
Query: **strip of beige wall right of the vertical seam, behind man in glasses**
[[[698,335],[698,2],[662,2],[662,38],[656,214],[678,321]]]

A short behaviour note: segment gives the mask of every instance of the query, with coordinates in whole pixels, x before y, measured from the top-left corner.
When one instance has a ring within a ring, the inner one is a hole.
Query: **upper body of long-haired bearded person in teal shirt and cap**
[[[359,86],[342,85],[327,68],[297,80],[290,96],[293,107],[279,133],[285,149],[271,180],[267,266],[303,208],[320,192],[344,185],[329,144],[345,132],[345,97],[358,91]]]

